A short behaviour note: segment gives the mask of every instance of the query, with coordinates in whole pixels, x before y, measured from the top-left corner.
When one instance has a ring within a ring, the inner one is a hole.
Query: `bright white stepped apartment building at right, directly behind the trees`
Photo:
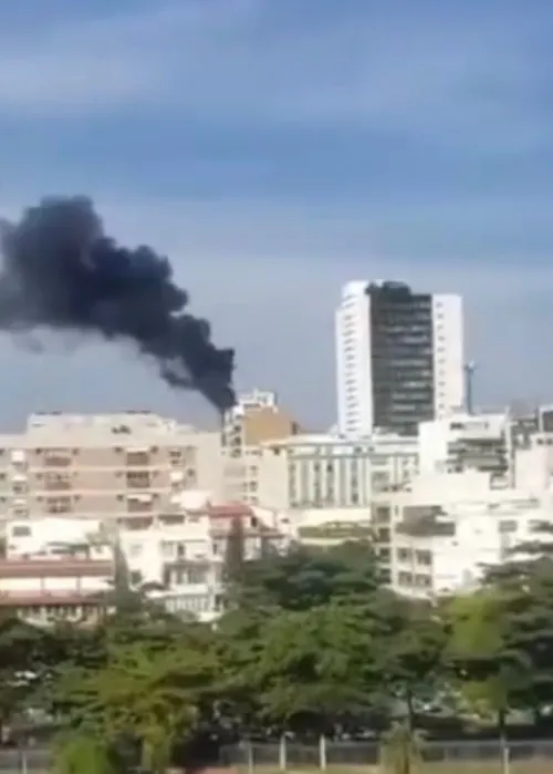
[[[392,584],[428,598],[473,589],[518,547],[549,543],[543,525],[553,524],[551,498],[476,469],[415,478],[392,513]]]

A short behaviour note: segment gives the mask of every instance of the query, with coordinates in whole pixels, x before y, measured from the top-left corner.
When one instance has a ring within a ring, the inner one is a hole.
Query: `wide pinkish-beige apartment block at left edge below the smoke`
[[[220,493],[218,433],[149,412],[33,414],[0,436],[0,515],[64,515],[117,523],[170,514],[175,495]]]

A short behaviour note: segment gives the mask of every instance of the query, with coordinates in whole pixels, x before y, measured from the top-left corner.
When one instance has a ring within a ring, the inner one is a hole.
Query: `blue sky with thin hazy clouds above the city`
[[[107,230],[170,256],[239,386],[330,424],[333,309],[367,277],[463,293],[477,402],[553,401],[550,3],[1,6],[0,213],[93,196]],[[209,419],[125,347],[75,343],[0,341],[0,422]]]

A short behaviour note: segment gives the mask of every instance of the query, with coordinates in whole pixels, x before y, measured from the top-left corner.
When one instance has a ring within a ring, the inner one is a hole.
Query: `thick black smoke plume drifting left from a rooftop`
[[[211,342],[187,311],[188,293],[149,247],[121,247],[84,197],[52,198],[1,233],[0,329],[48,327],[134,342],[173,386],[197,390],[218,410],[234,403],[234,352]]]

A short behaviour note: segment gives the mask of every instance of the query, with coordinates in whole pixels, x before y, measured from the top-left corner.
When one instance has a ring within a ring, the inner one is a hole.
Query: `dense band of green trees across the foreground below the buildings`
[[[154,772],[207,740],[306,737],[429,718],[534,730],[553,709],[553,560],[512,564],[467,596],[398,597],[365,544],[267,553],[237,528],[217,626],[176,619],[118,584],[98,623],[0,621],[0,719],[54,722],[59,770]],[[204,745],[204,747],[202,747]],[[207,745],[207,746],[206,746]],[[200,752],[199,752],[200,751]]]

